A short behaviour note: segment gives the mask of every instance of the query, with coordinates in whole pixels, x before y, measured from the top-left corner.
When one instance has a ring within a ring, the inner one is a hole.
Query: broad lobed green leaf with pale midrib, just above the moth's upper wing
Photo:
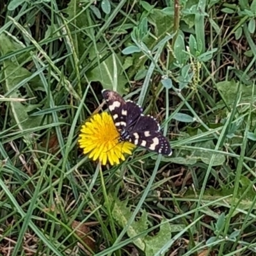
[[[108,52],[100,53],[104,48],[103,44],[97,44],[97,52],[92,48],[90,50],[90,60],[93,61],[95,58],[102,58],[104,54],[108,54]],[[114,60],[114,58],[116,60]],[[114,74],[114,61],[116,62],[116,74]],[[127,79],[124,76],[124,69],[122,68],[122,63],[124,62],[124,58],[121,54],[111,54],[106,60],[102,61],[97,65],[97,67],[93,68],[90,72],[86,74],[90,81],[99,81],[104,89],[113,90],[114,84],[114,76],[117,79],[117,92],[120,94],[125,93],[125,84],[127,83]]]

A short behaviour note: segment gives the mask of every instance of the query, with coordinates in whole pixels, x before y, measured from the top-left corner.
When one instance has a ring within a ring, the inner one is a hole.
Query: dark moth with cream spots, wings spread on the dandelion
[[[172,155],[170,143],[160,131],[160,125],[153,116],[143,115],[143,109],[131,100],[124,100],[112,90],[102,90],[116,129],[119,142],[129,141],[158,154]]]

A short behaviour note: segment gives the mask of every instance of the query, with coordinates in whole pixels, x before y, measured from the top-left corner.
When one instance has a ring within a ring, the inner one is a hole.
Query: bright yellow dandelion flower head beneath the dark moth
[[[120,159],[125,160],[124,154],[132,154],[135,147],[128,141],[118,141],[120,134],[117,131],[112,117],[104,112],[95,114],[82,125],[79,134],[79,147],[84,154],[89,154],[93,161],[99,159],[101,164],[119,164]]]

